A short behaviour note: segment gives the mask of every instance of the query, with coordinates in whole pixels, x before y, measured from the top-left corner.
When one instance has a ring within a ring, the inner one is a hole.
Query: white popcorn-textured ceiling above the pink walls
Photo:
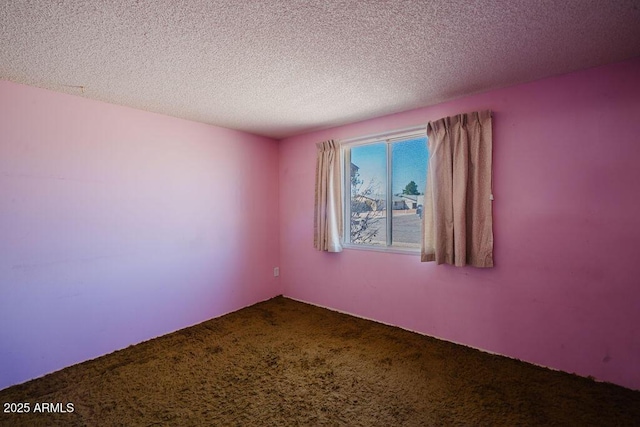
[[[2,0],[0,79],[282,138],[640,56],[640,0]]]

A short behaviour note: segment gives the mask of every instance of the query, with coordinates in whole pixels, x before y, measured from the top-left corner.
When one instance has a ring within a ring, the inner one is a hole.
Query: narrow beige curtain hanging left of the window
[[[340,145],[337,141],[329,140],[316,146],[318,159],[313,246],[319,251],[341,252]]]

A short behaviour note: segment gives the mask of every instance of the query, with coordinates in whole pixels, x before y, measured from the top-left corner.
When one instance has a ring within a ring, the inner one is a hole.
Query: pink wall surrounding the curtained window
[[[312,247],[316,142],[494,111],[493,269]],[[285,295],[640,389],[640,58],[280,144]]]

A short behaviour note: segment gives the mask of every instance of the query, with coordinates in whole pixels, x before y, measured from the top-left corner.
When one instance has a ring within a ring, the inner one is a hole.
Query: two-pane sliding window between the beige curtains
[[[346,247],[419,252],[427,159],[424,128],[343,142]]]

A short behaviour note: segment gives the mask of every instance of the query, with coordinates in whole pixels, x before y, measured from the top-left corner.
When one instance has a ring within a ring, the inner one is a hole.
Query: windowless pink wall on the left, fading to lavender
[[[0,82],[0,389],[282,293],[278,248],[276,141]]]

